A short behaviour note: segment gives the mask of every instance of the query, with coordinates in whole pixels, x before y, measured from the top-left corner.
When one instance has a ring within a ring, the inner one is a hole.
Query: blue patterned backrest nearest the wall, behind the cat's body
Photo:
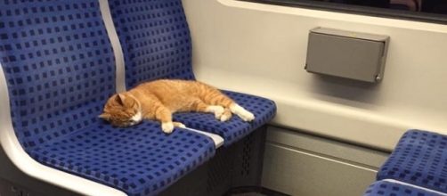
[[[181,0],[110,0],[126,62],[126,86],[193,79],[191,36]]]

